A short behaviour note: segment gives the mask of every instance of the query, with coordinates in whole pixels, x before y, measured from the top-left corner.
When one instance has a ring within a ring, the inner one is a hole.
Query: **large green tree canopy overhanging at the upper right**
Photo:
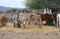
[[[26,0],[25,5],[32,9],[60,8],[60,0]]]

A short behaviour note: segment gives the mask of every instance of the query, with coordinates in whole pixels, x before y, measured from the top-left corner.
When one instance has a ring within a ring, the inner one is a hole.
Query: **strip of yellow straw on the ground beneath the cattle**
[[[18,27],[13,27],[13,24],[8,23],[7,26],[5,27],[1,27],[0,30],[2,31],[6,31],[6,30],[11,30],[14,32],[52,32],[52,31],[60,31],[60,28],[56,28],[54,26],[42,26],[42,28],[39,28],[37,25],[28,25],[26,26],[25,29],[22,28],[18,28]]]

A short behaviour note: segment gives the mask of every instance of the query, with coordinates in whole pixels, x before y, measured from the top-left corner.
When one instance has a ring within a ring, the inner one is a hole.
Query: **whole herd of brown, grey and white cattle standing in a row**
[[[56,19],[57,20],[56,20]],[[39,14],[39,13],[31,13],[29,15],[29,18],[26,18],[26,15],[24,13],[15,13],[12,16],[14,27],[21,28],[21,25],[25,28],[26,25],[30,25],[31,22],[34,22],[35,25],[38,25],[39,28],[42,27],[42,21],[51,22],[51,24],[55,24],[58,27],[60,26],[60,14],[57,14],[55,17],[55,14]],[[3,15],[1,17],[1,26],[6,26],[8,18],[6,15]],[[55,22],[57,21],[57,23]],[[47,24],[46,24],[47,25]]]

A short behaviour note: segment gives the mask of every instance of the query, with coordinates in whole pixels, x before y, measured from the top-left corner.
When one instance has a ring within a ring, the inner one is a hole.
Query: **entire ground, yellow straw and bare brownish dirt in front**
[[[23,28],[14,28],[7,24],[0,28],[0,39],[60,39],[60,28],[53,26],[42,26],[41,29],[36,25]]]

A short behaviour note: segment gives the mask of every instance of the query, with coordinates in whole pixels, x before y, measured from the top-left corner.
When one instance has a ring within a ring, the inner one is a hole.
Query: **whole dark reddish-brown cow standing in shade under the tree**
[[[38,14],[41,15],[41,20],[46,22],[51,22],[51,24],[55,24],[54,14]]]

